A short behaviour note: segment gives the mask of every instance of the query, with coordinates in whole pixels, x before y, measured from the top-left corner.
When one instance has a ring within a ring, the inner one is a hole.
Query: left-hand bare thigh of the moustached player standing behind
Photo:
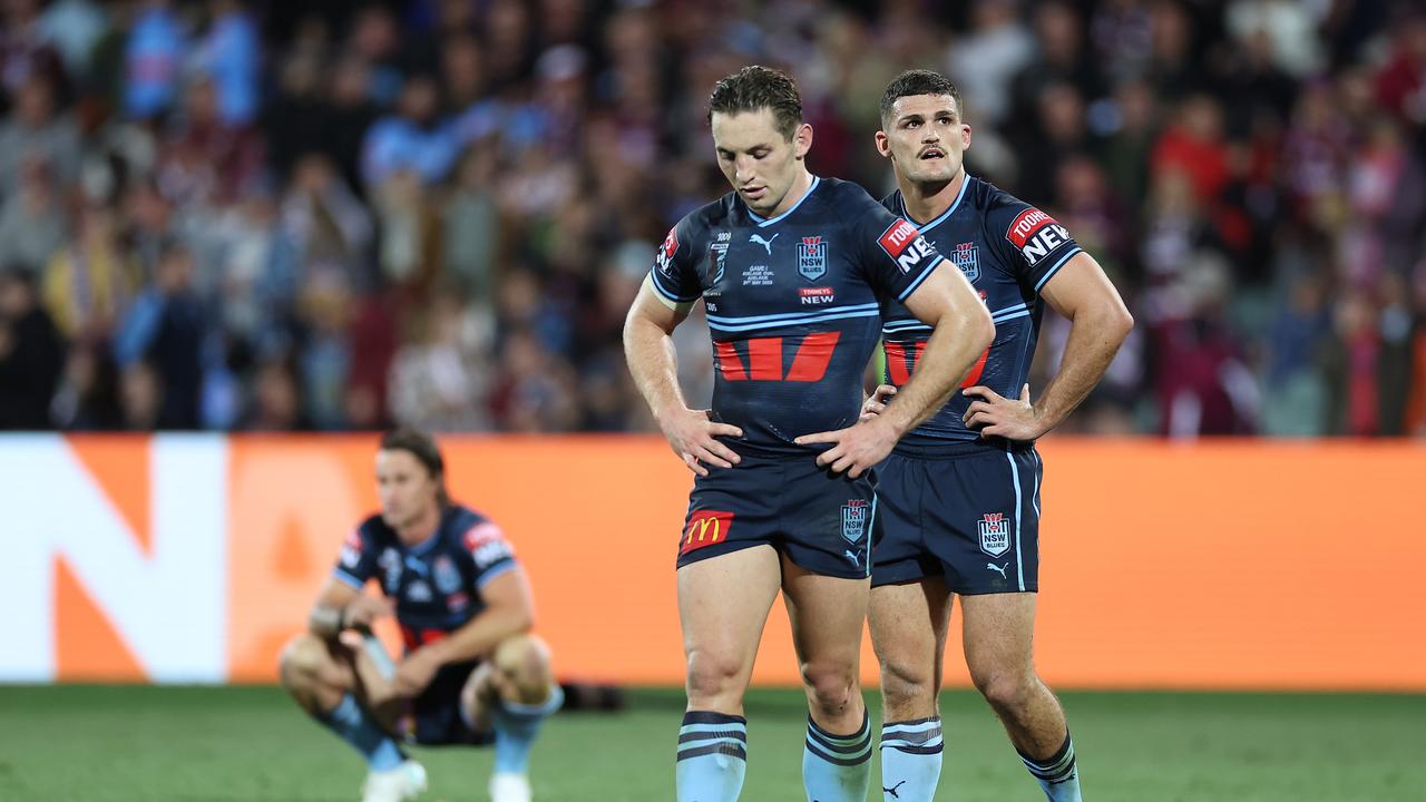
[[[871,588],[867,624],[887,692],[935,692],[953,597],[943,577]]]

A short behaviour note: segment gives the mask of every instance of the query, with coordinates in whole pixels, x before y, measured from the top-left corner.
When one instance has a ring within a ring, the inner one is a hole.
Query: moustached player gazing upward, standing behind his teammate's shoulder
[[[898,190],[883,203],[911,220],[975,287],[995,321],[961,392],[904,437],[878,468],[884,539],[871,571],[871,639],[881,664],[887,801],[928,802],[941,771],[937,694],[951,599],[975,688],[1052,802],[1078,802],[1074,742],[1035,674],[1041,462],[1035,438],[1094,388],[1134,320],[1094,257],[1048,214],[968,176],[971,127],[944,77],[908,71],[881,98],[877,151]],[[1048,303],[1072,321],[1060,371],[1031,401],[1025,377]],[[867,418],[931,367],[931,330],[883,310],[888,385]]]

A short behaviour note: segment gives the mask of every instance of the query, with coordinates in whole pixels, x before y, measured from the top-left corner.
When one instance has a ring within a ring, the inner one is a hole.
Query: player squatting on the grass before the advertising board
[[[365,802],[425,789],[425,769],[402,741],[493,743],[492,799],[529,802],[530,745],[563,695],[549,648],[530,634],[525,571],[492,521],[449,499],[429,435],[382,438],[376,492],[381,514],[347,538],[309,631],[282,652],[282,685],[365,758]],[[384,598],[362,592],[368,581]],[[369,635],[372,621],[392,614],[405,641],[396,665]]]

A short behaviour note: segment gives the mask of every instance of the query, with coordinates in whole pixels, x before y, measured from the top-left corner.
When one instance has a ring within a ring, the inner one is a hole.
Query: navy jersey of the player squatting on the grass
[[[481,588],[515,567],[501,528],[453,504],[442,511],[435,534],[412,547],[381,515],[366,518],[342,544],[335,575],[358,589],[376,579],[396,601],[396,622],[411,649],[479,615]]]

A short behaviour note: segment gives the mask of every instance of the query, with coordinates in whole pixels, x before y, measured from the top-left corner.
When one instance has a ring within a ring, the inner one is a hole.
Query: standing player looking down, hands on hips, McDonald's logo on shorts
[[[992,324],[913,225],[861,187],[807,171],[813,131],[789,76],[746,67],[717,83],[709,106],[733,191],[674,225],[625,325],[633,378],[696,474],[677,547],[687,659],[677,799],[737,799],[743,694],[781,591],[810,709],[807,798],[861,802],[871,739],[857,662],[880,527],[870,471],[944,404]],[[684,402],[669,338],[700,300],[716,357],[712,410]],[[886,300],[933,330],[923,358],[934,368],[861,422]]]

